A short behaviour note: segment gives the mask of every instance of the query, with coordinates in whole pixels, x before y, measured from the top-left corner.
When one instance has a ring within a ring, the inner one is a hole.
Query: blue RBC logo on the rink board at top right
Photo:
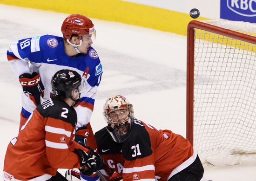
[[[256,16],[256,0],[227,0],[227,6],[241,16]]]

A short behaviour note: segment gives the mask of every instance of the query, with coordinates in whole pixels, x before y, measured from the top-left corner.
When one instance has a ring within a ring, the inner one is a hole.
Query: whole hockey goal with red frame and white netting
[[[256,24],[189,23],[186,135],[204,166],[256,160]]]

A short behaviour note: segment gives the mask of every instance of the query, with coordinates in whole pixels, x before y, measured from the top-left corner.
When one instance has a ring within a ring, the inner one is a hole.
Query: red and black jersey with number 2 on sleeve
[[[73,141],[76,123],[76,112],[66,102],[50,98],[40,104],[8,145],[5,181],[46,181],[58,168],[80,168],[73,151],[88,149]]]

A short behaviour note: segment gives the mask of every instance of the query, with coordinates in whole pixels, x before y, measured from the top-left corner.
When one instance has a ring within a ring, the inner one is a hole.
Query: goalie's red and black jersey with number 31
[[[166,181],[197,156],[187,139],[137,119],[122,143],[114,142],[106,128],[96,132],[95,138],[105,164],[122,175],[123,181]]]

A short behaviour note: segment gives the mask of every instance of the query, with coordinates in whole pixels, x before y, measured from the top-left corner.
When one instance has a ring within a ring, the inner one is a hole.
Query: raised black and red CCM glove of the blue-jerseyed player
[[[19,76],[20,84],[23,92],[29,97],[37,106],[40,104],[40,97],[44,97],[44,86],[40,80],[40,75],[36,72],[23,73]]]

